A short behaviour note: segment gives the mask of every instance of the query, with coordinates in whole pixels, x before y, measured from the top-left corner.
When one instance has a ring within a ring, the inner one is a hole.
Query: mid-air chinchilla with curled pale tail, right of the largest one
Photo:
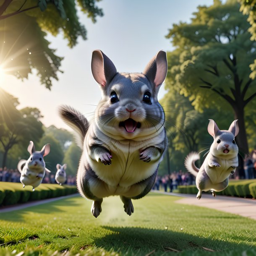
[[[209,119],[208,132],[214,138],[210,151],[204,159],[200,169],[195,162],[199,160],[197,152],[191,152],[185,158],[186,169],[196,176],[196,187],[199,192],[196,198],[201,199],[202,191],[211,190],[215,197],[215,191],[227,188],[228,177],[235,173],[238,167],[238,146],[235,136],[238,135],[238,120],[234,120],[228,131],[219,130],[214,120]]]

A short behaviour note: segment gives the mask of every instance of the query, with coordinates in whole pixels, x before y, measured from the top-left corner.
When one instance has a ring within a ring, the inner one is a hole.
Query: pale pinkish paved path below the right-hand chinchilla
[[[168,193],[160,191],[154,192],[183,197],[183,199],[175,201],[179,204],[190,204],[207,207],[223,212],[238,214],[243,217],[249,217],[251,219],[256,219],[256,199],[246,199],[219,195],[213,197],[212,195],[203,192],[201,199],[198,200],[196,199],[196,195],[191,194]]]

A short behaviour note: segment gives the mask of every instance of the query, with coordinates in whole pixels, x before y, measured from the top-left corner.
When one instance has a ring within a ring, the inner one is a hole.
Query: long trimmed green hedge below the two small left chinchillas
[[[35,191],[31,186],[23,188],[21,183],[0,182],[0,206],[22,204],[28,201],[48,199],[78,193],[75,185],[42,183]]]

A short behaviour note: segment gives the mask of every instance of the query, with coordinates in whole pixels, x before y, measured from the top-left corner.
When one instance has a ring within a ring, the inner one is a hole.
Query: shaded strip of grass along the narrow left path
[[[78,206],[79,204],[73,200],[73,197],[71,197],[71,198],[51,201],[48,203],[39,204],[35,206],[28,206],[27,208],[14,210],[13,212],[3,212],[3,213],[0,213],[0,219],[6,220],[6,221],[12,221],[12,222],[25,221],[26,214],[28,214],[29,212],[41,213],[41,214],[48,214],[52,212],[63,212],[63,210],[60,209],[60,207],[67,206],[67,205]]]

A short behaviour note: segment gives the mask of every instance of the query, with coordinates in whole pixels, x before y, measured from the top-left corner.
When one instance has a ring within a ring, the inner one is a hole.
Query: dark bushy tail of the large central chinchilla
[[[78,146],[83,149],[84,137],[88,131],[89,122],[79,111],[67,105],[61,105],[58,109],[62,120],[78,133],[76,142]]]

